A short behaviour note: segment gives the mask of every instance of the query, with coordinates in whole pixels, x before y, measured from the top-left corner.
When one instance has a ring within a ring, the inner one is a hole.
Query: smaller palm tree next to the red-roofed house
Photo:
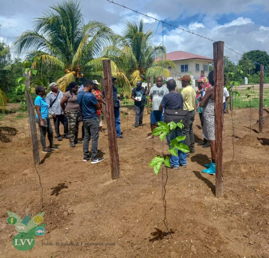
[[[164,46],[152,46],[153,32],[143,31],[143,20],[139,27],[134,22],[127,22],[123,37],[117,35],[112,46],[104,49],[103,55],[114,60],[126,74],[130,74],[130,83],[135,86],[138,80],[143,80],[151,75],[154,78],[164,75],[171,76],[166,66],[177,70],[177,66],[171,60],[165,60],[166,48]],[[164,60],[156,61],[158,56]],[[121,64],[121,65],[120,65]]]

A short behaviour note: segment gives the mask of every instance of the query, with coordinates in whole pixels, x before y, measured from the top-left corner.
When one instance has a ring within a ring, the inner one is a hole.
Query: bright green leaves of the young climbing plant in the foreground
[[[168,133],[171,134],[173,133],[174,130],[176,130],[176,128],[183,129],[183,127],[184,125],[182,123],[182,120],[181,122],[178,122],[178,123],[169,122],[168,124],[160,121],[158,122],[158,127],[156,127],[153,130],[152,134],[154,136],[159,136],[160,140],[163,141]],[[171,155],[177,156],[178,155],[177,150],[181,150],[182,152],[185,152],[185,153],[190,152],[188,146],[181,142],[185,140],[185,138],[186,136],[177,136],[175,139],[170,141],[170,148],[168,149],[168,151]],[[155,174],[158,175],[163,163],[166,167],[171,167],[168,156],[166,156],[165,158],[160,157],[160,156],[154,157],[151,160],[149,167],[153,167]]]

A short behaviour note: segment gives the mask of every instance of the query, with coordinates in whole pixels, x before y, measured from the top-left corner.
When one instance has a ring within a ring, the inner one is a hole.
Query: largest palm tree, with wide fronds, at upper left
[[[16,39],[14,47],[18,52],[33,53],[41,60],[42,67],[66,73],[58,80],[58,87],[65,90],[67,84],[83,76],[82,71],[103,76],[102,60],[105,57],[100,57],[100,52],[109,44],[112,36],[113,31],[101,22],[89,21],[84,24],[80,3],[70,0],[51,6],[43,17],[36,18],[34,30],[23,32]],[[33,62],[34,69],[38,65],[36,61]],[[111,71],[130,91],[128,79],[113,61]]]

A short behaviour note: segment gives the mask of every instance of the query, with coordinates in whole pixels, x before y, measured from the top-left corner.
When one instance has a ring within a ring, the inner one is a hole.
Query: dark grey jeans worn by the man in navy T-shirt
[[[83,141],[83,152],[84,158],[89,158],[89,142],[92,138],[92,158],[97,158],[97,147],[99,139],[99,122],[96,119],[83,120],[84,126],[84,141]]]

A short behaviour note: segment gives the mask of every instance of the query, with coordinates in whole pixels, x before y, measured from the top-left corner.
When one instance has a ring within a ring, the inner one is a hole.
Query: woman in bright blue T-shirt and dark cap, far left
[[[45,88],[42,86],[36,87],[36,99],[35,99],[35,107],[36,107],[36,122],[38,123],[39,131],[40,131],[40,142],[42,145],[43,153],[51,153],[52,149],[59,149],[57,146],[53,144],[53,129],[51,126],[51,122],[49,120],[49,110],[48,104],[45,101]],[[49,148],[46,146],[46,134],[48,132],[49,139]]]

